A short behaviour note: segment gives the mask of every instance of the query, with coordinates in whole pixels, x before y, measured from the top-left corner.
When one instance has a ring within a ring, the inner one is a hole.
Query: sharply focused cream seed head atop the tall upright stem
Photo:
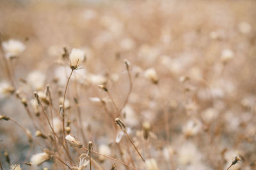
[[[77,69],[79,64],[84,60],[84,52],[77,48],[73,48],[69,55],[71,69]]]

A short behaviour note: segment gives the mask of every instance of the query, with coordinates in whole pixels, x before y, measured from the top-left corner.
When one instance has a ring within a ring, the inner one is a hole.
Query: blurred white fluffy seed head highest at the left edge
[[[15,39],[3,42],[2,45],[7,58],[18,57],[26,48],[22,42]]]

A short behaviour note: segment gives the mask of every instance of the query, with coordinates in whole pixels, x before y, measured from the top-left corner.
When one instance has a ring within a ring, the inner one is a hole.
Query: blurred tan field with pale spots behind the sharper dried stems
[[[71,71],[67,56],[62,57],[63,48],[68,52],[79,48],[85,53],[83,69],[74,71],[66,97],[70,102],[66,119],[71,121],[70,134],[84,146],[92,141],[93,150],[98,151],[100,145],[106,145],[111,157],[136,169],[149,170],[227,169],[236,156],[241,160],[230,169],[256,169],[255,17],[253,0],[0,1],[1,40],[18,39],[26,46],[19,57],[7,60],[12,86],[28,100],[33,117],[33,92],[45,92],[49,84],[52,107],[44,107],[49,117],[53,111],[61,120],[60,97]],[[3,57],[2,52],[0,83],[11,83]],[[131,94],[130,72],[124,59],[131,63]],[[150,68],[156,70],[158,83],[147,74]],[[29,80],[33,71],[45,75],[43,87],[33,87],[41,81]],[[110,95],[99,90],[101,83]],[[29,129],[42,146],[29,143],[24,131],[13,122],[0,120],[3,169],[9,168],[5,150],[11,164],[29,162],[31,155],[44,148],[54,154],[58,150],[49,137],[35,136],[36,130],[51,134],[42,110],[37,117],[43,122],[42,129],[35,129],[15,92],[0,94],[0,115]],[[156,160],[157,167],[150,169],[125,136],[115,143],[118,127],[113,126],[107,112],[115,116],[118,111],[111,97],[118,108],[128,99],[120,118],[131,128],[129,135],[141,154],[147,160]],[[81,118],[77,116],[79,110]],[[151,125],[149,139],[143,138],[145,122]],[[79,130],[80,123],[84,134]],[[83,152],[68,148],[79,165]],[[59,155],[68,165],[74,165],[68,163],[63,150]],[[115,162],[102,162],[96,154],[92,157],[102,169],[111,169]],[[67,169],[54,158],[42,166],[21,167]],[[116,169],[125,168],[116,163]]]

